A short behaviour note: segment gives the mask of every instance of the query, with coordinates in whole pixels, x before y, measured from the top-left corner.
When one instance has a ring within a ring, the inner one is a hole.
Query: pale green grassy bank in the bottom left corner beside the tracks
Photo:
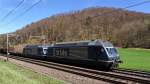
[[[0,61],[0,84],[64,84],[63,81]]]

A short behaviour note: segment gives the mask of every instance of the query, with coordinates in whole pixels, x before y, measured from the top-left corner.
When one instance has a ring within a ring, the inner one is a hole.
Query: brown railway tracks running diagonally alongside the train
[[[58,64],[53,62],[35,60],[30,58],[24,58],[19,56],[9,56],[10,58],[54,68],[58,70],[62,70],[65,72],[89,77],[92,79],[102,80],[109,83],[119,83],[119,84],[127,84],[127,83],[141,83],[141,84],[150,84],[150,74],[149,73],[142,73],[136,71],[129,71],[129,70],[114,70],[110,72],[106,71],[98,71],[92,69],[86,69],[81,67],[69,66],[64,64]]]

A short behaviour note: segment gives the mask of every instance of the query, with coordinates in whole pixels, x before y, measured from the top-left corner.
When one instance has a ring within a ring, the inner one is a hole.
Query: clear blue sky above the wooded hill
[[[21,4],[6,19],[2,20],[2,18],[14,9],[21,1],[22,0],[0,0],[0,34],[15,32],[32,22],[60,13],[68,13],[96,6],[124,8],[148,0],[42,0],[24,15],[18,17],[26,9],[39,1],[24,0],[23,4]],[[150,2],[128,8],[127,10],[150,13]]]

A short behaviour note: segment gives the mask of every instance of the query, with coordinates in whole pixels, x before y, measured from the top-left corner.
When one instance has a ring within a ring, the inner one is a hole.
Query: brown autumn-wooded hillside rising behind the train
[[[100,16],[97,16],[102,14]],[[14,32],[13,44],[41,43],[31,36],[45,35],[46,42],[106,39],[120,47],[150,48],[150,15],[116,8],[93,7],[57,14]],[[4,40],[1,38],[0,40]],[[1,42],[4,45],[4,42]]]

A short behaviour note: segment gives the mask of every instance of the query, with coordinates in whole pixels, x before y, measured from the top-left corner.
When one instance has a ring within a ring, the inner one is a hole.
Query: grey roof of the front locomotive
[[[60,42],[52,44],[52,46],[88,46],[88,45],[101,45],[105,47],[112,47],[113,45],[105,40],[86,40],[86,41],[72,41],[72,42]]]

